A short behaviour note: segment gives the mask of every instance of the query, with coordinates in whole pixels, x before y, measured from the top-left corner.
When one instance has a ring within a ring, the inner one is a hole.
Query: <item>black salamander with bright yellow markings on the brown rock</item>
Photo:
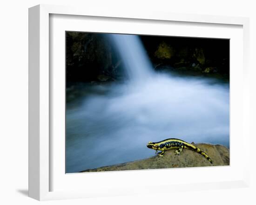
[[[195,147],[195,145],[190,144],[186,141],[175,139],[175,138],[170,138],[170,139],[166,139],[166,140],[159,141],[159,142],[149,141],[147,144],[147,147],[150,149],[154,149],[155,153],[157,153],[157,151],[162,151],[161,153],[158,154],[158,156],[160,156],[160,157],[162,157],[164,155],[165,151],[169,150],[169,149],[175,149],[175,154],[180,154],[182,152],[183,148],[190,149],[199,154],[202,154],[207,160],[209,160],[210,163],[212,163],[212,160],[210,159],[208,154],[206,154],[200,148]]]

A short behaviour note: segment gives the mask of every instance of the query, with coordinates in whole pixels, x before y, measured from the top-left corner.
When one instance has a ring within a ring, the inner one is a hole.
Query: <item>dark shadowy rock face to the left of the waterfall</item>
[[[113,49],[100,33],[67,32],[67,81],[92,81],[110,71]],[[115,62],[114,62],[115,63]]]

